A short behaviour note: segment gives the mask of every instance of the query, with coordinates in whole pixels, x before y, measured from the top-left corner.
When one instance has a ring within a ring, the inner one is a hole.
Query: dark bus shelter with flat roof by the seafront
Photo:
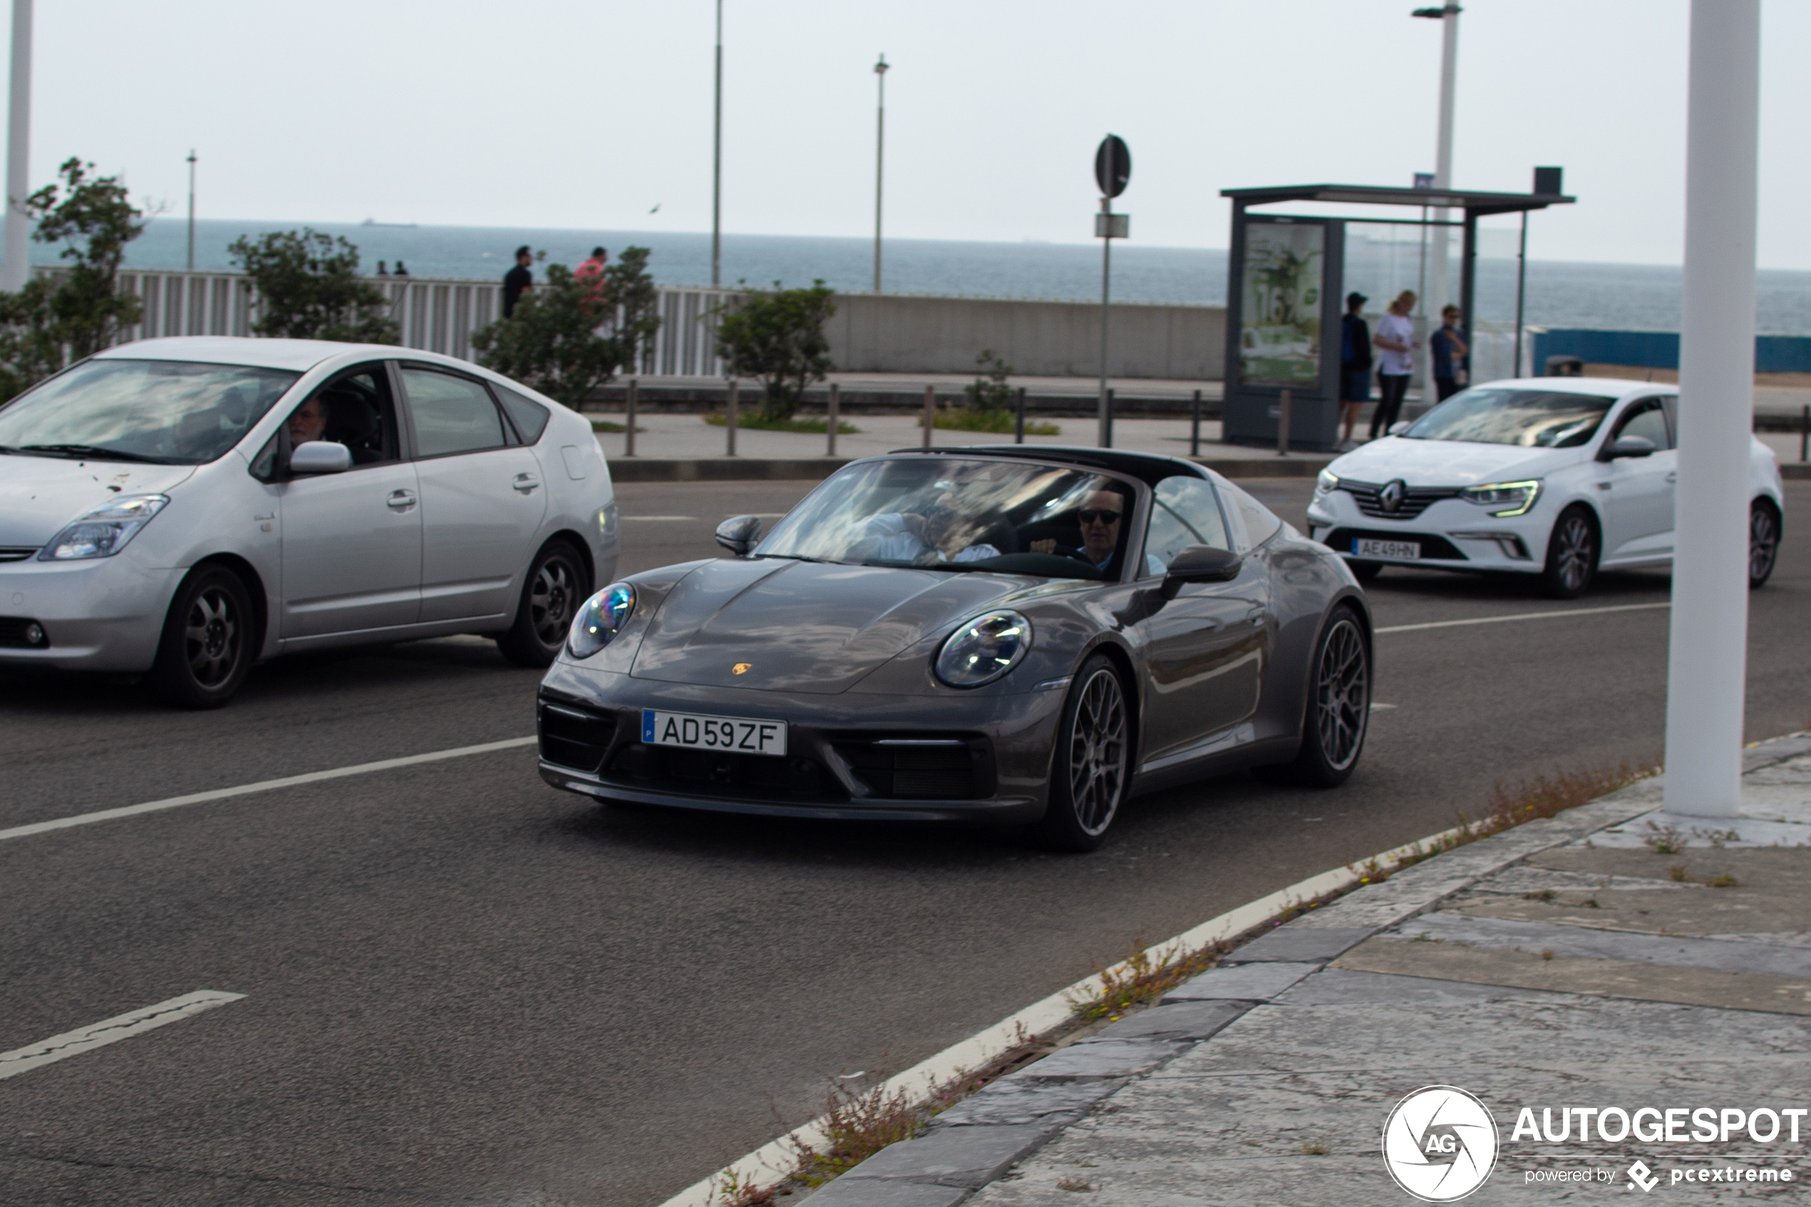
[[[1527,253],[1527,215],[1552,204],[1570,204],[1559,168],[1536,168],[1534,192],[1483,194],[1456,188],[1382,188],[1371,185],[1284,185],[1226,188],[1233,203],[1231,252],[1226,262],[1226,394],[1222,440],[1277,445],[1280,394],[1289,391],[1289,445],[1329,451],[1338,440],[1340,315],[1346,297],[1346,226],[1458,226],[1460,309],[1465,344],[1472,344],[1478,291],[1478,219],[1521,214]],[[1398,206],[1422,217],[1318,217],[1311,214],[1253,214],[1257,206],[1286,203]],[[1429,210],[1458,210],[1463,219],[1431,219]],[[1516,322],[1521,290],[1516,280]]]

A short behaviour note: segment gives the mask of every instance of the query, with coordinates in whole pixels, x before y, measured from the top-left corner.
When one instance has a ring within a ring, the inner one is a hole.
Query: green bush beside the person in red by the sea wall
[[[549,264],[547,280],[523,293],[509,318],[473,333],[478,364],[578,407],[661,326],[647,266],[647,248],[623,248],[601,282]]]

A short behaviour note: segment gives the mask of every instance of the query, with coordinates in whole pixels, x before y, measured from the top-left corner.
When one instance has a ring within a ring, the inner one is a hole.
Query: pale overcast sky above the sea
[[[1413,0],[726,0],[723,226],[1087,241],[1132,147],[1145,246],[1226,246],[1228,186],[1433,170],[1440,22]],[[1465,0],[1454,185],[1570,210],[1538,259],[1677,262],[1686,0]],[[273,221],[710,230],[712,0],[40,0],[33,181]],[[1760,264],[1811,268],[1811,4],[1766,0]],[[650,210],[659,204],[657,214]]]

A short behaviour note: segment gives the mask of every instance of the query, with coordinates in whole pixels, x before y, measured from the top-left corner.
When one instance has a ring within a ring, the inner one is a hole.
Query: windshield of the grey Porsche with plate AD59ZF
[[[835,474],[755,548],[864,566],[1119,577],[1132,489],[1087,470],[900,458]]]

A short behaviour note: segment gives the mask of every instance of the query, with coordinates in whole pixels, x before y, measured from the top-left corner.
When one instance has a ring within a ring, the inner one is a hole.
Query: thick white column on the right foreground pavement
[[[1691,0],[1666,809],[1740,807],[1760,0]]]

